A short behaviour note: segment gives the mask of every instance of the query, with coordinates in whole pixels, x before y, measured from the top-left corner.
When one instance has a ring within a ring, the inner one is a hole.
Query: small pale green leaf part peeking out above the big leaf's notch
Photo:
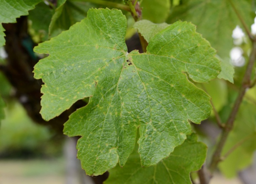
[[[168,27],[169,24],[154,24],[148,20],[137,21],[134,24],[134,28],[138,30],[139,33],[145,38],[147,43],[150,41],[152,37],[154,37],[158,32]]]

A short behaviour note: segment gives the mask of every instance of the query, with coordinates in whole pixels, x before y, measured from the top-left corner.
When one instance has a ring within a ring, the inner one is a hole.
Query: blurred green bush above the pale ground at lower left
[[[47,127],[33,123],[20,104],[8,105],[0,127],[0,157],[52,157],[61,152]]]

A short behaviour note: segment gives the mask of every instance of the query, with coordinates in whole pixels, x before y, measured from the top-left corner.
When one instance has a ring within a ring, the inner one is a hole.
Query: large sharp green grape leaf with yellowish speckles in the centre
[[[87,174],[102,174],[133,151],[139,128],[143,166],[155,165],[211,112],[210,97],[189,82],[209,82],[220,64],[196,27],[177,22],[155,35],[147,53],[127,53],[126,19],[116,9],[91,9],[68,31],[35,47],[49,53],[35,65],[42,78],[41,115],[60,115],[90,97],[74,112],[64,132],[82,136],[78,157]]]

